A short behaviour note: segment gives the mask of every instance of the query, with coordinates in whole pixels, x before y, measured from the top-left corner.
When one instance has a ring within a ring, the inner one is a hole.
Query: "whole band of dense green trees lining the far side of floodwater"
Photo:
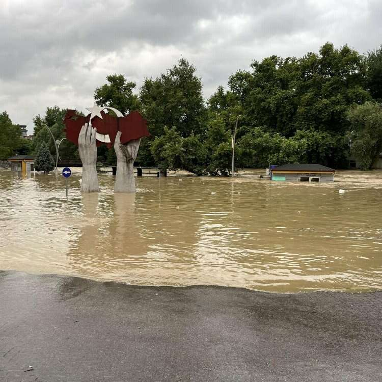
[[[141,166],[229,175],[237,119],[237,167],[316,162],[345,168],[351,150],[362,168],[370,168],[382,151],[382,46],[363,55],[328,42],[301,58],[274,55],[253,61],[250,70],[236,71],[227,89],[219,86],[206,101],[195,66],[183,58],[157,78],[145,78],[136,93],[135,83],[123,74],[106,80],[95,89],[99,105],[125,114],[139,110],[148,121],[152,137],[141,142],[136,160]],[[7,138],[18,130],[3,113],[0,154],[36,152],[42,142],[54,153],[44,124],[57,139],[64,138],[64,113],[53,106],[35,117],[32,148]],[[78,160],[70,142],[61,144],[60,155]],[[98,160],[115,164],[113,149],[99,147]]]

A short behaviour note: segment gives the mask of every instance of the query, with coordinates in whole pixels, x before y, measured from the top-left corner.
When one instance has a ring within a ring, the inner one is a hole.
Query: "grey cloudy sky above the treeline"
[[[106,75],[138,91],[181,57],[208,97],[270,54],[375,49],[381,19],[380,0],[0,0],[0,112],[32,132],[46,106],[85,111]]]

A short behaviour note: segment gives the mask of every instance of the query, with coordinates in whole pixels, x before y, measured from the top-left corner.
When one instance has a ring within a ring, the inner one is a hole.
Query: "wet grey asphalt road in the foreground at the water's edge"
[[[0,380],[380,381],[381,322],[381,292],[140,287],[0,271]]]

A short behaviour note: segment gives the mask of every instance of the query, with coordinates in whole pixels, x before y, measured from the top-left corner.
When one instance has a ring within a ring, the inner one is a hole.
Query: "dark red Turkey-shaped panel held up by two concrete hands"
[[[114,145],[117,131],[121,131],[121,143],[126,144],[132,140],[150,137],[147,121],[139,112],[131,112],[124,117],[112,117],[108,113],[100,112],[102,118],[94,116],[91,120],[97,129],[97,146],[105,144],[109,149]],[[91,114],[86,117],[78,116],[74,110],[68,110],[64,117],[66,138],[78,146],[78,135],[81,127],[89,123]]]

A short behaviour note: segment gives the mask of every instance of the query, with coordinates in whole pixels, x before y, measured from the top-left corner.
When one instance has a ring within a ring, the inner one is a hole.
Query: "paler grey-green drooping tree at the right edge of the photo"
[[[353,105],[348,119],[351,154],[359,160],[361,170],[371,170],[382,152],[382,106],[373,102]]]

